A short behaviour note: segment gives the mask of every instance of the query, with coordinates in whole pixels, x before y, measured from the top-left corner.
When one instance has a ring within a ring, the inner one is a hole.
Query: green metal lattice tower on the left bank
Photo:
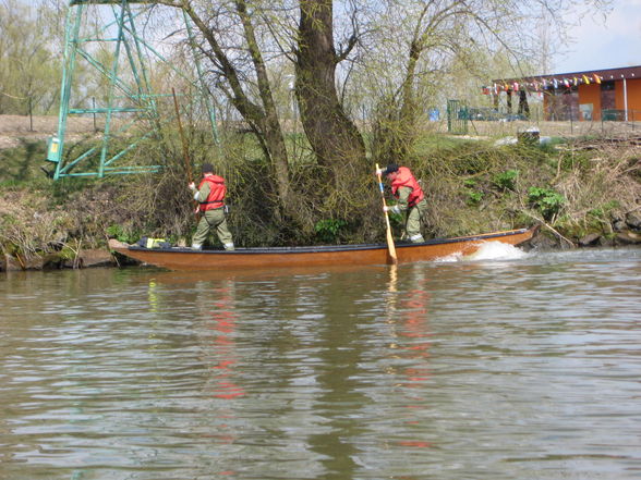
[[[156,9],[156,10],[155,10]],[[157,12],[154,1],[145,0],[71,0],[66,14],[62,83],[58,133],[49,139],[47,160],[56,165],[53,180],[65,176],[96,176],[155,172],[164,167],[136,164],[132,153],[149,139],[161,141],[160,127],[174,120],[170,110],[160,111],[159,104],[169,91],[154,91],[149,69],[152,64],[167,63],[177,75],[185,78],[184,72],[173,67],[145,38],[145,25]],[[189,44],[194,49],[192,28],[184,12],[182,17]],[[93,28],[86,24],[92,22]],[[142,25],[142,27],[140,26]],[[108,52],[109,54],[105,54]],[[195,53],[195,51],[193,50]],[[107,58],[108,61],[104,59]],[[215,110],[204,85],[202,70],[194,54],[195,81],[192,83],[204,100],[215,141],[218,141]],[[104,79],[100,104],[78,108],[74,93],[82,93],[77,85],[77,70],[94,70],[96,78]],[[167,103],[167,102],[165,102]],[[65,151],[68,119],[72,115],[100,118],[101,128],[87,147],[74,146]],[[176,112],[173,113],[176,115]],[[71,151],[74,150],[74,151]],[[75,151],[77,150],[77,151]]]

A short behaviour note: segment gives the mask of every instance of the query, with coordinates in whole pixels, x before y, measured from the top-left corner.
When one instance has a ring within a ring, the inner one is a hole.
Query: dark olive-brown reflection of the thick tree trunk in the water
[[[317,394],[311,411],[322,418],[324,431],[310,435],[307,442],[322,458],[320,478],[354,478],[365,452],[359,439],[372,434],[363,421],[373,403],[364,392],[368,372],[361,367],[367,352],[360,318],[362,305],[368,303],[368,290],[362,288],[365,282],[332,282],[314,288],[320,318],[313,367]]]

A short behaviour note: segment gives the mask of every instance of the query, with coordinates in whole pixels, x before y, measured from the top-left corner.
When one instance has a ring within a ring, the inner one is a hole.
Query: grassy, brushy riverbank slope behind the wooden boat
[[[268,168],[252,148],[245,141],[227,150],[229,221],[238,245],[384,241],[374,175],[360,179],[372,185],[368,198],[341,199],[341,205],[353,205],[346,216],[332,211],[331,202],[317,200],[327,186],[316,184],[314,165],[292,165],[306,201],[301,208],[314,225],[312,233],[303,233],[267,207],[273,205],[265,182]],[[43,171],[49,167],[44,157],[43,140],[23,140],[0,150],[2,254],[72,259],[82,248],[105,247],[109,237],[128,243],[144,235],[190,242],[195,221],[180,162],[158,174],[53,182]],[[586,243],[589,235],[590,242],[604,244],[616,243],[621,232],[633,237],[641,226],[640,147],[633,140],[499,146],[492,139],[426,135],[407,164],[427,195],[427,237],[543,222],[551,244]],[[400,235],[401,219],[392,218],[392,225]]]

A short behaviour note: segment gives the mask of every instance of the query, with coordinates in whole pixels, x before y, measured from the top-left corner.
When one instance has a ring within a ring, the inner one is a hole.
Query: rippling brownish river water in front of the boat
[[[0,278],[0,479],[641,478],[641,250]]]

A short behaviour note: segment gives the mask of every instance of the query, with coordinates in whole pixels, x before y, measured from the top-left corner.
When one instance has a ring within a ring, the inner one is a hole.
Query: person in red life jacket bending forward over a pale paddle
[[[378,173],[378,172],[377,172]],[[406,233],[412,243],[425,242],[421,235],[421,217],[427,211],[427,200],[414,175],[407,167],[390,163],[379,172],[391,182],[391,194],[397,204],[386,207],[386,211],[394,213],[406,212]]]

